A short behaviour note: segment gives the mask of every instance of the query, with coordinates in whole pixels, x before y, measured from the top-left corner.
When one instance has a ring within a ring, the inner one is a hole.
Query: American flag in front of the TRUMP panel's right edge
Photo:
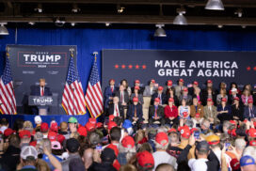
[[[62,95],[62,106],[70,116],[87,113],[83,86],[78,71],[75,70],[73,59],[70,59],[66,85]]]

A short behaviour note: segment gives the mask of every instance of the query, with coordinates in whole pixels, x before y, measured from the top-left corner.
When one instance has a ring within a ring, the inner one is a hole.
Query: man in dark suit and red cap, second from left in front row
[[[137,130],[143,121],[142,105],[138,102],[137,97],[134,97],[133,103],[129,105],[127,117],[133,123],[134,130]]]

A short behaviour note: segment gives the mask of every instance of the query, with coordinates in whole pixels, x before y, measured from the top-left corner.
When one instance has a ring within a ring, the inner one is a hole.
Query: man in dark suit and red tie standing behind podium
[[[52,92],[49,87],[45,86],[45,79],[40,78],[40,85],[35,86],[31,91],[31,96],[52,96]],[[48,110],[49,108],[46,107]],[[33,107],[32,112],[34,115],[39,115],[38,107]]]

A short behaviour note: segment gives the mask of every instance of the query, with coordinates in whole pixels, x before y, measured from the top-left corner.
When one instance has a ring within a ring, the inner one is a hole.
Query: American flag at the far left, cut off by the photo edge
[[[0,110],[2,114],[17,114],[11,71],[6,57],[6,67],[0,78]]]

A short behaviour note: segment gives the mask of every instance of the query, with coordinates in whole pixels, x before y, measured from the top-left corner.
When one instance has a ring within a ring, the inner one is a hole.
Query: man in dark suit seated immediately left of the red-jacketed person
[[[149,124],[152,125],[155,121],[160,122],[161,125],[165,124],[164,107],[159,105],[160,99],[155,98],[153,105],[149,109]]]

